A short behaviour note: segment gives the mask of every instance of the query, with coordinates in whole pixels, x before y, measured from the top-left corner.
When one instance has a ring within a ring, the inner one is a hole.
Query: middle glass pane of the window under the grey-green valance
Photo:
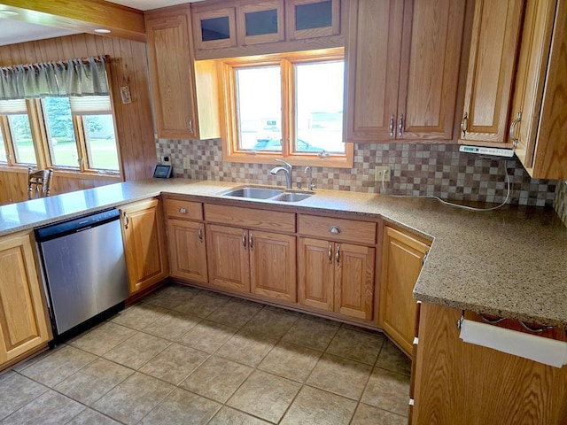
[[[77,144],[68,97],[43,99],[43,115],[50,145],[51,164],[78,168]]]

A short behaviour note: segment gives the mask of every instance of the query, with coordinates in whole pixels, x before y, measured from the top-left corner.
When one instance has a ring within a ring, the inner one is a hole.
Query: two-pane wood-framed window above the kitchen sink
[[[344,50],[223,61],[224,158],[353,166],[343,142]]]

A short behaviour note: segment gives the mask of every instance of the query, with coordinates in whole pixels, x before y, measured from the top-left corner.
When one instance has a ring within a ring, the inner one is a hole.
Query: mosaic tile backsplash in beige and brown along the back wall
[[[158,160],[171,158],[176,177],[256,184],[283,184],[282,175],[271,175],[274,164],[239,164],[222,161],[221,140],[168,140],[157,142]],[[190,168],[183,168],[183,159]],[[329,168],[312,164],[316,188],[380,193],[375,166],[391,166],[387,194],[428,195],[454,200],[501,203],[506,197],[504,164],[511,183],[510,204],[555,205],[555,180],[532,179],[516,158],[479,158],[459,152],[456,144],[360,143],[354,145],[354,166]],[[303,167],[293,167],[293,181],[306,182]],[[563,185],[564,186],[564,185]],[[565,190],[565,189],[562,189]],[[564,211],[563,196],[563,211]]]

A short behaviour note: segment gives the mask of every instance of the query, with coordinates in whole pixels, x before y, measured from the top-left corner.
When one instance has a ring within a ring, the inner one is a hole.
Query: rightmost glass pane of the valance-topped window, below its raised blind
[[[82,118],[89,155],[89,168],[119,171],[113,116],[111,114],[85,115]]]

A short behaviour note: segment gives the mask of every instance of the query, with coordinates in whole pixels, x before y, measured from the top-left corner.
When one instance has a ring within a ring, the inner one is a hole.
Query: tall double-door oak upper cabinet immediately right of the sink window
[[[351,1],[346,141],[452,139],[464,5]]]

